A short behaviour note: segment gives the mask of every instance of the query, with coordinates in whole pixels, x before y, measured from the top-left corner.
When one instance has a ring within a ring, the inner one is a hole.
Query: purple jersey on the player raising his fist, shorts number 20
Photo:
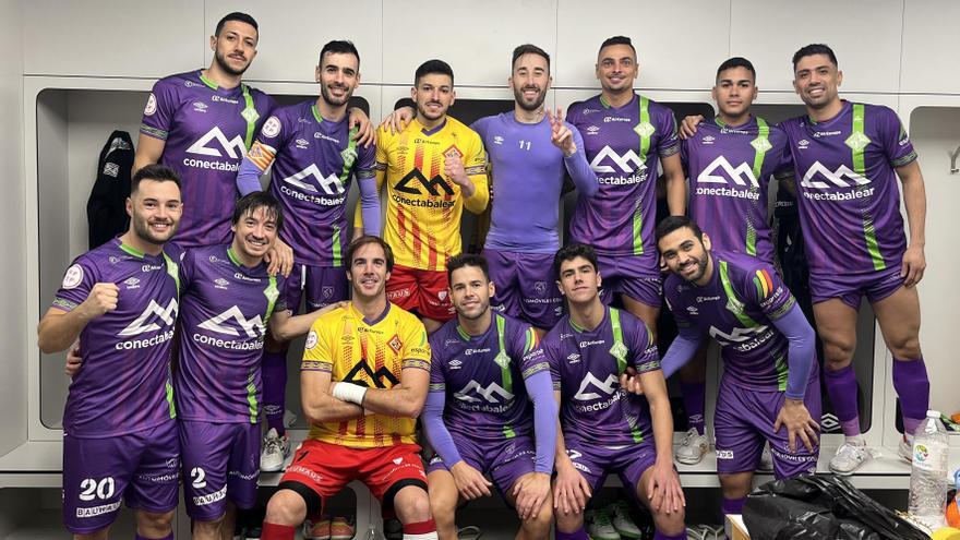
[[[157,427],[175,417],[170,344],[177,320],[177,263],[113,239],[76,257],[53,299],[72,311],[98,283],[120,288],[117,309],[80,334],[83,369],[70,384],[63,430],[101,439]]]

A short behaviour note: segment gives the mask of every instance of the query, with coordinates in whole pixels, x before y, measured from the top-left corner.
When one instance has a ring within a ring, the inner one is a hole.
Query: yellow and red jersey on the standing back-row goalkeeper
[[[480,135],[454,118],[428,130],[416,119],[392,134],[381,129],[376,143],[376,185],[386,183],[386,224],[383,239],[396,263],[444,271],[446,260],[460,253],[464,206],[480,214],[490,201],[487,154]],[[460,187],[444,175],[444,160],[458,155],[476,187],[464,197]],[[356,224],[362,225],[360,213]]]

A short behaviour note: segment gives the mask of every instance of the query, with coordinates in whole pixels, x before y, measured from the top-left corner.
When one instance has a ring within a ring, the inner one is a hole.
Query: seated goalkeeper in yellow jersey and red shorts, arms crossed
[[[307,336],[300,392],[310,435],[267,504],[262,538],[292,540],[324,497],[360,480],[396,512],[404,538],[435,539],[415,434],[430,381],[427,332],[386,300],[394,260],[383,240],[358,238],[346,260],[353,298]]]

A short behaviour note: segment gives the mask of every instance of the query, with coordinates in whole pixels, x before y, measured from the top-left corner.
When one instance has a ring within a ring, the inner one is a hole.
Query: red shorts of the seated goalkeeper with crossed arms
[[[293,461],[280,479],[280,487],[284,482],[297,482],[321,499],[339,493],[353,480],[363,482],[384,509],[393,508],[394,496],[407,485],[418,485],[427,491],[427,472],[420,458],[420,446],[416,444],[348,448],[307,440],[293,454]]]

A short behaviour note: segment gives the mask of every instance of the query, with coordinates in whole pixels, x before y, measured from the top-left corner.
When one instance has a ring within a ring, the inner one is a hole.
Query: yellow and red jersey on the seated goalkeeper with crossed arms
[[[310,328],[300,364],[331,373],[332,381],[384,389],[399,384],[406,368],[430,371],[430,344],[423,323],[392,303],[371,322],[352,303],[325,313]],[[416,444],[416,418],[370,415],[313,424],[309,439],[357,448]]]

